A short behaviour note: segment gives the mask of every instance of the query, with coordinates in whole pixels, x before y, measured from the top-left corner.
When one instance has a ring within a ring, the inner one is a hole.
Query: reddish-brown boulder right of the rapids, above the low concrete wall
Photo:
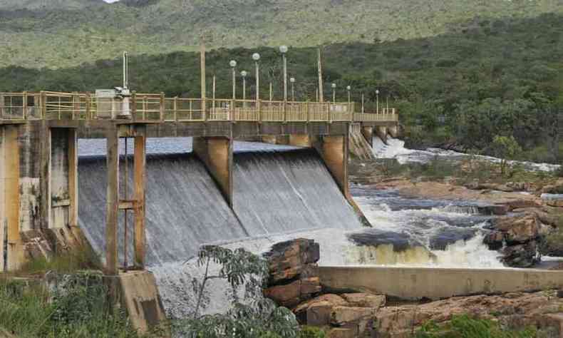
[[[504,233],[509,245],[534,240],[539,235],[539,221],[532,213],[499,218],[494,226],[496,230]]]

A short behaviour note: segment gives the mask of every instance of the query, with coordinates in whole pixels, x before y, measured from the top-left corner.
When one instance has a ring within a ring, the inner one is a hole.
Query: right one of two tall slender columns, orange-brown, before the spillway
[[[135,181],[135,267],[145,267],[146,232],[145,232],[145,184],[146,174],[146,139],[145,136],[135,137],[135,158],[133,180]]]

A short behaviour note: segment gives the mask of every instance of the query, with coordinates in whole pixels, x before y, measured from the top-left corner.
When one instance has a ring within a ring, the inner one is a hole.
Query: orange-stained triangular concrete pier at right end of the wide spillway
[[[315,148],[344,197],[351,200],[348,190],[348,135],[323,136],[315,142]]]

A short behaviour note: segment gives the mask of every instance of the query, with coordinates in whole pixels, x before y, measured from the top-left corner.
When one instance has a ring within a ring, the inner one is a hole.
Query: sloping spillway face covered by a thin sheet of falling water
[[[190,138],[149,139],[147,149],[148,265],[187,260],[203,244],[361,227],[315,150],[235,143],[229,208],[205,165],[191,153]],[[97,252],[105,250],[104,150],[104,140],[79,142],[78,223]],[[119,236],[123,245],[123,230]]]

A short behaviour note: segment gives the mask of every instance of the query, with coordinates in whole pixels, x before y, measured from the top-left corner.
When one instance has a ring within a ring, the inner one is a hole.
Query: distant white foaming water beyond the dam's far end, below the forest
[[[438,148],[428,148],[426,150],[412,150],[405,148],[405,142],[396,138],[388,138],[386,143],[380,138],[373,138],[373,154],[376,158],[396,158],[399,163],[426,163],[436,156],[440,158],[448,158],[449,160],[463,160],[469,158],[471,155],[465,153],[458,153],[453,150],[443,150]],[[493,163],[499,163],[500,158],[492,156],[477,155],[476,158],[480,160],[487,160]],[[549,163],[533,163],[525,161],[509,161],[511,164],[522,165],[526,170],[536,171],[554,171],[560,165]]]

